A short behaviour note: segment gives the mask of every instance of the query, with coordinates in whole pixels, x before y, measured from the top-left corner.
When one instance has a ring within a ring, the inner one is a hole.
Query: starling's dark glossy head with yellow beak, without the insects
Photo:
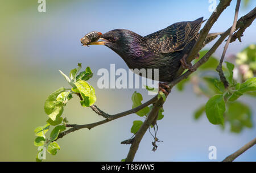
[[[100,41],[90,43],[106,45],[119,56],[141,56],[146,41],[140,35],[127,29],[114,29],[100,36]]]

